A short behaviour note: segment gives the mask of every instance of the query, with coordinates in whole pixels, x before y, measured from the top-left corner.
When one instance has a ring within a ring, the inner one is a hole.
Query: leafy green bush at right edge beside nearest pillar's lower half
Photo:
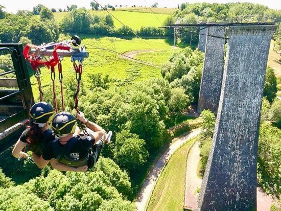
[[[257,177],[267,194],[280,196],[281,130],[269,123],[260,127]]]

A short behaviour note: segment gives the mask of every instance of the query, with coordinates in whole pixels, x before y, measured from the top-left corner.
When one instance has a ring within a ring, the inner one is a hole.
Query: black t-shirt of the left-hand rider
[[[21,133],[19,140],[24,143],[28,143],[28,132],[30,128],[25,129],[24,132]],[[41,156],[43,148],[47,145],[47,143],[52,142],[52,140],[55,140],[56,136],[54,134],[53,130],[45,130],[42,134],[42,137],[40,137],[40,141],[38,143],[31,144],[29,146],[29,150],[34,152],[36,155]]]

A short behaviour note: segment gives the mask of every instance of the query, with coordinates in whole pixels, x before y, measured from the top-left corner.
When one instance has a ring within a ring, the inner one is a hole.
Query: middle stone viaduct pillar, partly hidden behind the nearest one
[[[208,27],[207,34],[224,37],[225,28],[220,29],[221,27]],[[206,38],[205,58],[197,107],[199,113],[204,109],[209,109],[214,113],[218,111],[223,77],[224,44],[225,39],[210,36]]]

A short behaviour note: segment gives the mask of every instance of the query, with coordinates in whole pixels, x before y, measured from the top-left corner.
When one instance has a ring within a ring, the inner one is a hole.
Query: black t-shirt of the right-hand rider
[[[59,142],[59,139],[56,139],[46,145],[43,149],[42,157],[44,160],[51,160],[52,158],[57,159],[57,154],[62,155],[64,152],[69,152],[70,154],[66,155],[67,157],[79,161],[88,156],[93,143],[95,143],[95,138],[84,135],[74,136],[64,145]],[[57,149],[55,149],[54,146],[56,146]],[[71,149],[69,149],[69,147],[71,147]]]

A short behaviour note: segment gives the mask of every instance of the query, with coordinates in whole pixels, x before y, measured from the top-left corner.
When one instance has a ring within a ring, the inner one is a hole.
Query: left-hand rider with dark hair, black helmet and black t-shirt
[[[35,164],[40,166],[40,156],[42,150],[48,142],[56,139],[53,130],[48,129],[54,115],[54,108],[46,102],[39,102],[34,104],[30,109],[30,126],[22,132],[17,143],[15,144],[12,155],[16,158],[29,158],[29,155],[22,150],[28,145],[29,150],[32,151],[32,157]],[[76,131],[77,133],[79,131]],[[53,161],[51,161],[51,164]],[[65,165],[57,166],[59,170],[74,171]],[[79,171],[84,171],[83,168]]]

